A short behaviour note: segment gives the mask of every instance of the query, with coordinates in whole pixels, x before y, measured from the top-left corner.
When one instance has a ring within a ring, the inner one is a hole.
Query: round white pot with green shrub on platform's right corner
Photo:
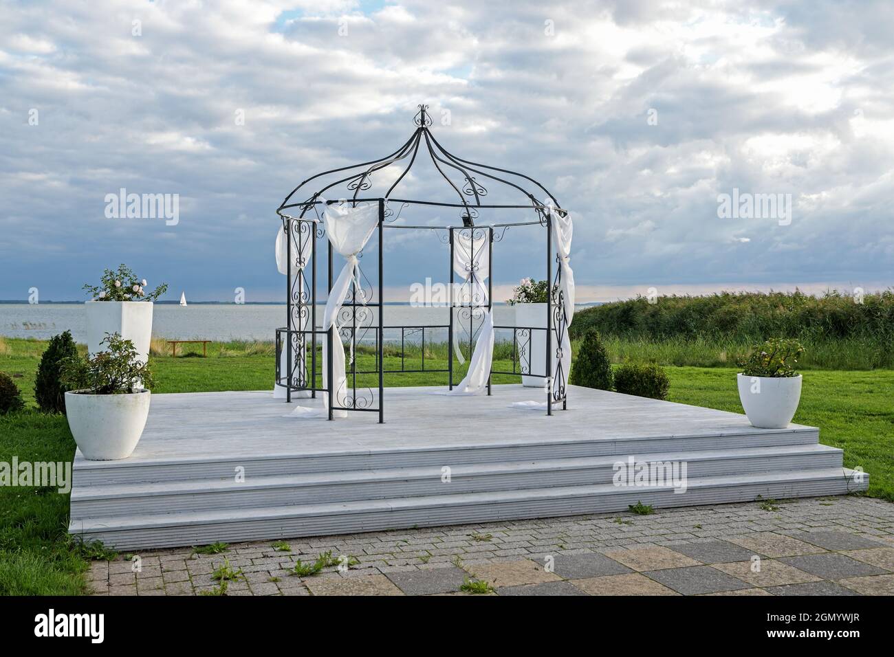
[[[784,429],[801,399],[801,375],[795,371],[804,347],[797,340],[772,339],[739,362],[738,398],[752,425]]]

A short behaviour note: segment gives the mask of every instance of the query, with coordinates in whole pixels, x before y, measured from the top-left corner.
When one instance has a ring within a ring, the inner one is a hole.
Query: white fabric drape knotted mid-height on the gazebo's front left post
[[[333,329],[333,385],[332,390],[335,394],[335,404],[347,396],[348,378],[345,372],[344,345],[342,337],[339,333],[340,326],[338,324],[338,315],[344,305],[345,296],[350,290],[350,283],[354,282],[358,290],[362,290],[359,278],[358,253],[367,245],[367,241],[375,232],[375,227],[379,223],[379,206],[378,204],[363,204],[353,206],[350,202],[340,203],[338,205],[326,206],[325,199],[319,198],[325,206],[323,221],[326,227],[326,236],[329,238],[333,249],[338,251],[345,258],[342,273],[338,275],[333,283],[333,288],[329,291],[329,299],[326,300],[326,307],[323,314],[323,330]],[[366,299],[358,298],[361,302]],[[356,308],[355,308],[356,310]],[[381,308],[380,308],[381,310]],[[323,342],[323,387],[327,385],[327,347],[328,340]],[[353,354],[352,354],[353,356]],[[329,395],[323,393],[323,409],[308,409],[298,407],[291,412],[296,417],[329,417]],[[333,417],[347,417],[347,411],[333,411]]]

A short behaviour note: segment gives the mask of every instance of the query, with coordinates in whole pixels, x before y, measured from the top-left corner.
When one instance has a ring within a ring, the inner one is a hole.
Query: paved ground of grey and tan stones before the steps
[[[155,550],[94,561],[88,577],[97,595],[894,595],[894,504],[777,505]],[[295,573],[321,555],[316,575]]]

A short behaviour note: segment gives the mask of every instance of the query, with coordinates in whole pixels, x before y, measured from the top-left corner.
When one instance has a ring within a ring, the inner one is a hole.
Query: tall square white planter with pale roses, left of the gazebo
[[[107,333],[118,333],[124,340],[133,342],[139,359],[147,362],[149,341],[152,338],[153,301],[167,291],[167,285],[159,285],[155,291],[146,291],[146,279],[138,279],[127,265],[118,271],[106,269],[99,285],[85,285],[90,300],[84,305],[87,311],[87,351],[95,354]]]

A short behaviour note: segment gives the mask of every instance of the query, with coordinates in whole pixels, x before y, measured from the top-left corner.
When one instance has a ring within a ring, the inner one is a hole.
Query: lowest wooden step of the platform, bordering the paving
[[[380,500],[72,519],[69,531],[115,549],[147,549],[223,541],[276,540],[412,526],[549,518],[756,499],[834,495],[865,490],[842,467],[690,478],[686,493],[670,485],[554,486],[516,491],[453,493]]]

